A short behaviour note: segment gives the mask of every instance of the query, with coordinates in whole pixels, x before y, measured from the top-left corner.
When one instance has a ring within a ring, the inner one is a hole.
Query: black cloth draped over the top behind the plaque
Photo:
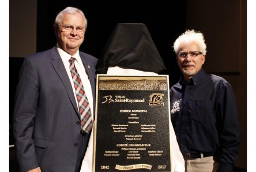
[[[97,73],[107,73],[108,67],[116,66],[158,74],[166,70],[146,25],[116,25],[97,65]]]

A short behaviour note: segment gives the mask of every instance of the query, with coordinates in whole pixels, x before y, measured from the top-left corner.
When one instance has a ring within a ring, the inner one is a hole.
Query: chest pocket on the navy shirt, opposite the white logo
[[[214,118],[211,100],[194,100],[189,102],[188,115],[197,123],[212,123]]]

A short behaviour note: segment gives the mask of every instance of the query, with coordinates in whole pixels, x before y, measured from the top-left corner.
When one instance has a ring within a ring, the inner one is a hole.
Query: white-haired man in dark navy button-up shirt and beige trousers
[[[242,132],[231,85],[202,69],[202,33],[187,30],[174,51],[183,75],[170,91],[171,120],[186,171],[232,171]]]

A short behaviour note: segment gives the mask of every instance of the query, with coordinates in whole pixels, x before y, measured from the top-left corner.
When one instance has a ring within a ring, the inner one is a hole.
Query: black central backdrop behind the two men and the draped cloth
[[[56,45],[52,25],[59,11],[78,7],[88,19],[88,28],[80,50],[100,58],[116,24],[145,24],[168,69],[170,84],[176,83],[180,71],[172,50],[176,37],[185,32],[186,1],[37,1],[37,52]]]

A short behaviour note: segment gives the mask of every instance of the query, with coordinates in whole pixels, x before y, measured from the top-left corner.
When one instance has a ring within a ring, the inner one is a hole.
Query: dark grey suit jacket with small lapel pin
[[[95,100],[97,58],[82,52],[80,57]],[[80,130],[76,99],[57,48],[26,57],[13,120],[21,171],[37,166],[47,172],[78,171],[89,139]]]

